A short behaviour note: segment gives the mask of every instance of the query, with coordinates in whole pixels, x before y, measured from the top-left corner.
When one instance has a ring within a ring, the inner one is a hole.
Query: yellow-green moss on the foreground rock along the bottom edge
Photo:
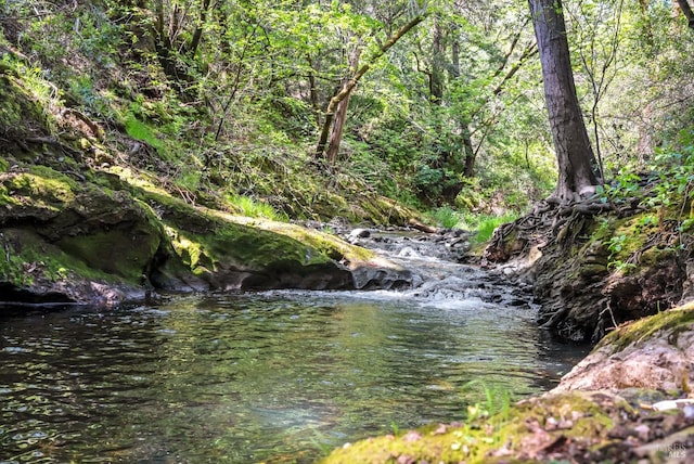
[[[626,402],[619,408],[630,409]],[[561,429],[548,424],[567,424]],[[422,427],[416,431],[369,438],[333,451],[323,464],[407,462],[517,462],[517,455],[537,444],[536,429],[547,429],[548,440],[560,437],[593,443],[605,438],[613,420],[590,396],[580,392],[550,395],[523,401],[504,414],[457,426]],[[503,452],[498,452],[503,448]]]

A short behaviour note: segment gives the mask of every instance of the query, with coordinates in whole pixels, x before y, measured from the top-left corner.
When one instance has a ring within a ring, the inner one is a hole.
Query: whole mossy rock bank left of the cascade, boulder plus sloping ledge
[[[152,287],[321,289],[409,282],[406,270],[333,235],[192,206],[124,173],[86,179],[20,165],[0,172],[5,299],[119,302]]]

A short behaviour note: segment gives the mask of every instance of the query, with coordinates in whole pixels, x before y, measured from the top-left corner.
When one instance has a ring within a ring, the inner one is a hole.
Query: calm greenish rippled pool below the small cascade
[[[583,352],[472,297],[272,292],[0,320],[0,462],[313,462],[516,398]]]

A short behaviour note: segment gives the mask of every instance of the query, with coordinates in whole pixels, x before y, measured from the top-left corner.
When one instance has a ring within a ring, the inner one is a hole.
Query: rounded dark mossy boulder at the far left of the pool
[[[163,233],[129,195],[29,166],[0,173],[0,201],[5,300],[113,304],[144,294]]]

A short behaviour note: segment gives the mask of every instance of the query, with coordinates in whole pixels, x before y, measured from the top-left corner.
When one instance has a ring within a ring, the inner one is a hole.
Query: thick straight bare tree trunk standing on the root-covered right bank
[[[594,192],[595,156],[576,95],[561,0],[528,0],[538,40],[544,96],[556,151],[554,196],[571,202]]]

